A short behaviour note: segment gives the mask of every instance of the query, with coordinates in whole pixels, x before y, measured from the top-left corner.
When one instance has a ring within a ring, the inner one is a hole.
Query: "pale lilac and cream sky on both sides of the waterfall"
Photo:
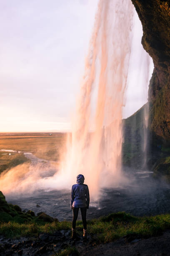
[[[0,132],[70,129],[97,3],[0,0]],[[129,82],[124,118],[148,97],[147,87],[139,82],[146,65],[137,14],[134,24],[133,82]],[[150,74],[152,70],[151,63]]]

